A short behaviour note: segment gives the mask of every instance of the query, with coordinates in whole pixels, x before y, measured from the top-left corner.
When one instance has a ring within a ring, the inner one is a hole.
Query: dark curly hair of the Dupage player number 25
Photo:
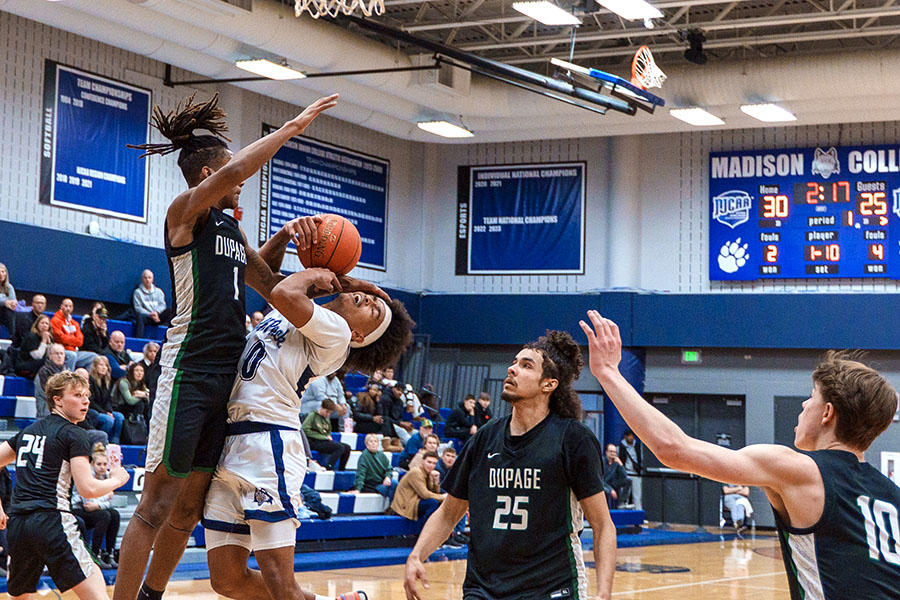
[[[572,384],[581,374],[584,359],[572,336],[565,331],[548,330],[547,335],[525,347],[541,354],[544,364],[541,377],[558,382],[550,393],[550,412],[566,419],[581,419],[581,400]]]

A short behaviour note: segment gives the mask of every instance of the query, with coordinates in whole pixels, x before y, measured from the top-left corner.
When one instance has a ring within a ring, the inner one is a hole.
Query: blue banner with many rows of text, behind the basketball
[[[275,129],[263,125],[263,135]],[[362,238],[359,265],[384,271],[390,166],[383,158],[307,137],[291,138],[262,169],[259,243],[291,219],[341,215]],[[292,246],[291,251],[296,249]]]

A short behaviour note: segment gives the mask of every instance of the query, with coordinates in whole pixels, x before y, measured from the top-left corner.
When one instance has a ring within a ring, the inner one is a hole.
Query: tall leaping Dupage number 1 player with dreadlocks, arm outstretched
[[[213,470],[225,441],[226,405],[244,348],[244,278],[276,308],[273,287],[283,279],[273,256],[293,240],[301,250],[316,242],[318,217],[296,219],[257,254],[232,216],[244,181],[293,136],[301,134],[337,95],[322,98],[280,129],[232,156],[225,113],[217,96],[187,99],[168,114],[156,108],[153,125],[169,140],[144,144],[143,156],[179,151],[189,189],[169,206],[165,247],[175,317],[160,352],[159,377],[146,479],[140,503],[122,540],[115,599],[159,600],[200,520]],[[195,135],[202,129],[212,135]],[[274,268],[273,268],[274,265]],[[383,295],[370,283],[338,279],[337,291]],[[143,586],[141,578],[153,549]]]

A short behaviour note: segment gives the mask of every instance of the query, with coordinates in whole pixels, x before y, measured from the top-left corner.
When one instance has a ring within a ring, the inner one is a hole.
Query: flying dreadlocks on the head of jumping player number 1
[[[180,150],[178,166],[190,185],[197,182],[204,166],[225,157],[228,149],[225,142],[231,141],[224,135],[228,126],[225,125],[225,111],[219,108],[219,94],[213,94],[206,102],[194,104],[196,95],[197,92],[194,92],[165,114],[159,106],[153,108],[150,123],[169,140],[168,143],[127,144],[129,148],[144,150],[140,158],[152,154],[165,156]],[[204,129],[212,135],[194,135],[195,129]]]

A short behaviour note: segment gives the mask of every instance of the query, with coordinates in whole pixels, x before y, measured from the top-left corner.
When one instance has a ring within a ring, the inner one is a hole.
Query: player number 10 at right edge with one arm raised
[[[715,481],[760,486],[775,513],[793,600],[900,598],[900,488],[865,462],[891,423],[897,393],[874,369],[829,352],[813,371],[794,445],[730,450],[686,435],[619,373],[619,328],[597,311],[591,372],[629,427],[666,466]]]

